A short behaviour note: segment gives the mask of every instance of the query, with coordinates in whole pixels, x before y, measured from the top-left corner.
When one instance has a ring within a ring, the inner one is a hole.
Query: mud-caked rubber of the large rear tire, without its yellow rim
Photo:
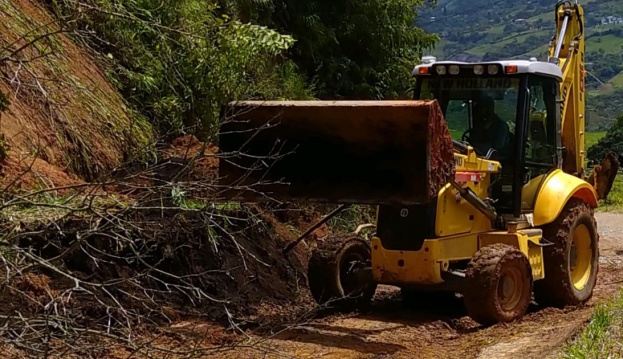
[[[591,273],[583,289],[578,290],[571,278],[571,246],[574,231],[586,226],[591,236]],[[534,285],[534,299],[542,306],[565,307],[589,301],[599,272],[599,233],[594,211],[585,202],[572,198],[551,224],[543,226],[543,237],[553,242],[543,248],[545,278]]]

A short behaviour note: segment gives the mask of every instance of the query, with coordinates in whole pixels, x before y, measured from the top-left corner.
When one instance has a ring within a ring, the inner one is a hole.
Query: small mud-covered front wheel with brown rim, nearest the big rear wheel
[[[532,269],[519,249],[506,244],[481,248],[467,267],[467,314],[481,325],[523,317],[532,298]]]

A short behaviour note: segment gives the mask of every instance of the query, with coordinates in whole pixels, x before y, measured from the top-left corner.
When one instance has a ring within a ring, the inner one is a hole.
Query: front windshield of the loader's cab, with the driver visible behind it
[[[420,78],[420,99],[437,99],[452,138],[467,141],[480,155],[513,151],[519,78]]]

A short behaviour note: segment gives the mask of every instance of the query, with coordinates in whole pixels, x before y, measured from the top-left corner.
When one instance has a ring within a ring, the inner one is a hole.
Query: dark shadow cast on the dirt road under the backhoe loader
[[[527,314],[541,309],[532,303]],[[350,325],[354,322],[360,325]],[[441,335],[446,337],[486,329],[467,316],[460,296],[404,298],[398,291],[393,291],[377,293],[372,305],[365,310],[341,313],[331,308],[323,309],[316,313],[313,322],[286,329],[273,338],[348,349],[362,354],[391,355],[405,347],[391,343],[391,339],[379,340],[383,333],[422,326],[439,328]]]

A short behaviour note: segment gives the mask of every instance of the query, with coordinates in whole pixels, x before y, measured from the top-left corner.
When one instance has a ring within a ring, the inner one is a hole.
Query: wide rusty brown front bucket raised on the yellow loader
[[[454,176],[436,101],[249,101],[223,117],[229,200],[413,205]]]

